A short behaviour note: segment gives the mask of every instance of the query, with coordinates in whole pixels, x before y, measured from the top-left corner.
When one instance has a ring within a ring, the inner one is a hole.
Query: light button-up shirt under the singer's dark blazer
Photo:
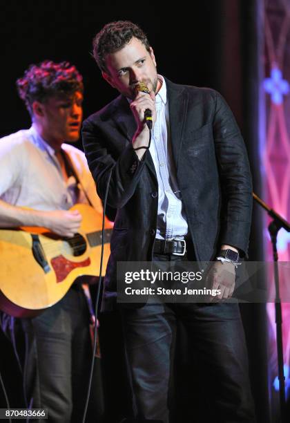
[[[188,225],[177,185],[176,169],[171,148],[166,82],[161,75],[162,87],[156,95],[157,119],[149,149],[158,181],[157,234],[159,239],[182,238]]]

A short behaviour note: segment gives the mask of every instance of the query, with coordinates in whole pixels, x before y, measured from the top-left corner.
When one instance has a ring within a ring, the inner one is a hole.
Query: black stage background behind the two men
[[[257,2],[259,3],[259,2]],[[101,79],[90,56],[91,41],[108,21],[139,23],[153,46],[159,73],[173,82],[209,86],[229,102],[246,141],[255,189],[260,187],[257,102],[259,66],[256,1],[207,0],[131,3],[119,1],[1,1],[1,129],[0,136],[30,126],[17,97],[15,81],[32,63],[68,60],[84,77],[84,118],[117,93]],[[78,147],[81,148],[81,142]],[[250,259],[262,258],[258,211],[253,218]],[[17,265],[17,263],[15,263]],[[259,422],[267,423],[267,358],[264,307],[243,308],[250,354],[251,379]],[[21,395],[21,382],[12,349],[0,334],[0,370],[12,398]],[[115,369],[117,372],[117,368]],[[112,383],[118,379],[112,376]],[[115,378],[115,379],[114,379]],[[210,383],[210,381],[209,381]],[[195,384],[195,381],[192,381]],[[121,394],[120,394],[121,395]],[[4,406],[0,391],[1,406]],[[118,404],[118,399],[115,400]],[[111,404],[113,406],[113,404]]]

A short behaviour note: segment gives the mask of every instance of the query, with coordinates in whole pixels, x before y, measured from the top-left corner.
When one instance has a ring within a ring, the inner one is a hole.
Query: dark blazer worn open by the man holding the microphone
[[[210,261],[222,244],[247,254],[252,185],[240,130],[222,96],[209,88],[166,79],[177,182],[195,256]],[[141,161],[131,140],[136,124],[120,95],[84,121],[88,166],[104,200],[117,209],[105,278],[105,308],[116,290],[117,261],[151,261],[158,186],[151,154]],[[110,172],[111,171],[111,172]]]

